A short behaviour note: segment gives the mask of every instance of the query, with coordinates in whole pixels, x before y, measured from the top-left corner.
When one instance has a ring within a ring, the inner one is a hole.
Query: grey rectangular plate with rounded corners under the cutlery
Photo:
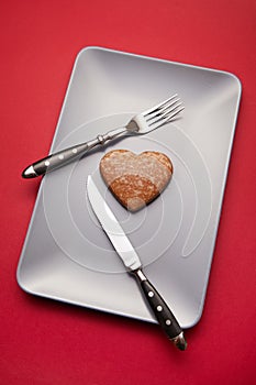
[[[185,111],[144,136],[126,136],[49,173],[41,184],[18,282],[35,295],[155,322],[87,199],[92,175],[145,273],[183,328],[200,319],[220,219],[241,97],[229,73],[99,47],[75,63],[51,152],[125,124],[172,94]],[[143,210],[126,211],[110,194],[99,162],[113,148],[158,151],[174,177]]]

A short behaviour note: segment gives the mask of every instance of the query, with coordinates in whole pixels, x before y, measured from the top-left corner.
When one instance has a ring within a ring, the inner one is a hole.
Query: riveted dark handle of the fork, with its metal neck
[[[41,175],[45,175],[56,168],[59,168],[80,156],[85,155],[89,150],[93,148],[97,145],[104,145],[105,142],[109,142],[126,132],[125,128],[119,128],[111,130],[105,134],[99,134],[96,139],[90,140],[85,143],[74,145],[71,147],[58,151],[57,153],[51,154],[26,167],[23,173],[23,178],[35,178]]]

